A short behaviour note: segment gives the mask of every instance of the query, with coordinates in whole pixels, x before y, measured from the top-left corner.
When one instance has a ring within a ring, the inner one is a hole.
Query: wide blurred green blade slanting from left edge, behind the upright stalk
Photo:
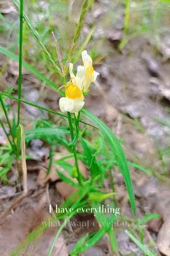
[[[18,61],[18,55],[14,54],[12,51],[9,51],[6,47],[0,46],[0,52],[1,54],[6,55],[8,58],[13,59],[14,61]],[[54,90],[59,88],[55,83],[42,75],[38,70],[36,70],[36,68],[28,64],[26,61],[23,61],[23,67],[30,71],[33,75],[37,76],[37,78],[39,78],[41,81],[47,83],[47,85],[49,85]]]

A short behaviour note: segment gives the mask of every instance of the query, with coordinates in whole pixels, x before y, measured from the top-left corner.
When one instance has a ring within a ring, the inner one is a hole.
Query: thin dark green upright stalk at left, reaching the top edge
[[[20,125],[22,67],[23,67],[23,0],[20,0],[20,56],[19,56],[19,77],[18,77],[18,121],[17,121],[18,125]]]

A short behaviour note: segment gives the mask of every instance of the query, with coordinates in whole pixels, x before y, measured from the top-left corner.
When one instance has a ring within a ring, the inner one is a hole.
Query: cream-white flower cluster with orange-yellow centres
[[[87,51],[82,52],[84,66],[77,66],[76,76],[73,73],[73,64],[69,65],[70,82],[65,88],[65,97],[60,98],[59,106],[62,112],[78,113],[84,106],[83,93],[88,92],[89,86],[99,75],[94,71],[93,61]]]

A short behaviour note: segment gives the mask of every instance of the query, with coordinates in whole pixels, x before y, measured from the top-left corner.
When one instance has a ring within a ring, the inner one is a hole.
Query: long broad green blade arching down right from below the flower
[[[103,123],[103,121],[101,121],[99,118],[94,116],[93,113],[89,112],[86,109],[82,109],[81,113],[83,113],[88,119],[90,119],[99,128],[99,130],[105,137],[106,141],[108,142],[108,145],[110,145],[110,149],[115,155],[116,162],[118,163],[118,167],[120,168],[120,171],[125,180],[125,184],[127,186],[127,191],[128,191],[128,197],[131,204],[131,209],[135,214],[135,196],[133,193],[132,181],[130,178],[130,172],[128,170],[127,159],[120,145],[120,142],[118,141],[116,136],[112,133],[110,128],[108,128],[108,126],[106,126],[105,123]]]

